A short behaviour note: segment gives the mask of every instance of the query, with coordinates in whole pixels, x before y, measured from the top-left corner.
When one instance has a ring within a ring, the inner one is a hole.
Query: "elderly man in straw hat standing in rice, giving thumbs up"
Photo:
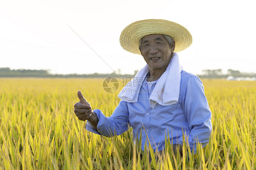
[[[163,150],[169,136],[175,151],[183,145],[184,135],[196,153],[196,142],[203,147],[209,142],[212,124],[202,81],[183,70],[176,53],[191,43],[188,30],[171,21],[150,19],[128,25],[120,44],[141,54],[146,66],[118,94],[121,101],[110,117],[92,110],[80,91],[80,102],[74,105],[76,116],[88,120],[87,130],[106,137],[132,127],[134,140],[141,135],[142,150],[147,150],[146,141],[154,151]]]

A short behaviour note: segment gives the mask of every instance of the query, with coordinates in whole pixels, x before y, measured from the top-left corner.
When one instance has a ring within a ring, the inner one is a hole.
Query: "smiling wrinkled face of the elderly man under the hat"
[[[174,47],[169,46],[164,35],[150,34],[142,38],[141,55],[149,67],[153,69],[167,67]]]

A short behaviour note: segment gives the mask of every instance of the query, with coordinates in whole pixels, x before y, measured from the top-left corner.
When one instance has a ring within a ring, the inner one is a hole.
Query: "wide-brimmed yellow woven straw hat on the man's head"
[[[149,19],[136,21],[124,28],[120,35],[120,44],[126,51],[141,55],[140,39],[149,34],[171,36],[175,41],[174,52],[182,51],[192,43],[192,36],[185,27],[168,20]]]

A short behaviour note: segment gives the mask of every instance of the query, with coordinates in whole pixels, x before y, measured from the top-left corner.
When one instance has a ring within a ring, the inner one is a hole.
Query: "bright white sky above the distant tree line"
[[[133,74],[146,62],[122,49],[122,30],[138,20],[164,19],[193,37],[178,52],[184,70],[256,72],[255,6],[252,0],[1,1],[0,68]]]

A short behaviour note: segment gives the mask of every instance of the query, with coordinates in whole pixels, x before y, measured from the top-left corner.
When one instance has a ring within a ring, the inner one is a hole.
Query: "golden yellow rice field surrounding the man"
[[[256,169],[256,81],[203,79],[212,111],[209,144],[195,155],[183,145],[180,158],[166,138],[165,153],[149,163],[154,152],[141,152],[132,129],[105,138],[75,116],[78,90],[93,109],[111,115],[121,87],[107,93],[103,80],[1,78],[0,169]]]

